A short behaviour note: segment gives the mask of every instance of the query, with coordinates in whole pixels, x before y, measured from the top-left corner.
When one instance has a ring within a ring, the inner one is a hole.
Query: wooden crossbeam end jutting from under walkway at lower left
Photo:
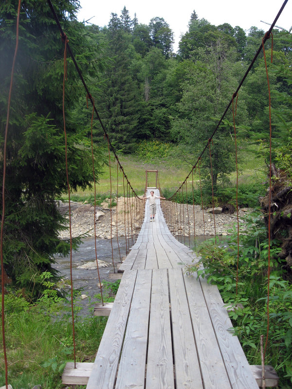
[[[93,368],[93,362],[67,362],[62,374],[62,384],[86,385]]]

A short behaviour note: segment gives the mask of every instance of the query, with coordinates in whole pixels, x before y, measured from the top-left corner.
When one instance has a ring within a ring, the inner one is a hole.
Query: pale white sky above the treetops
[[[109,23],[111,12],[121,15],[126,6],[130,17],[136,13],[138,22],[148,24],[151,18],[160,17],[169,24],[174,33],[174,51],[178,49],[180,36],[187,31],[188,22],[193,10],[198,17],[207,19],[211,24],[229,23],[248,30],[251,26],[267,31],[270,26],[260,20],[272,23],[284,0],[80,0],[80,21],[103,27]],[[292,0],[288,0],[277,26],[289,30],[292,26]]]

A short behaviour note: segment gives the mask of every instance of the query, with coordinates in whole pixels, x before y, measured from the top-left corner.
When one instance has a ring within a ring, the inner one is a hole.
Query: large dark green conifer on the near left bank
[[[94,72],[98,61],[87,40],[80,39],[84,25],[75,18],[78,4],[74,0],[53,1],[81,70]],[[1,175],[17,7],[17,0],[0,5]],[[45,0],[22,1],[19,30],[7,142],[3,256],[4,268],[13,282],[38,293],[39,274],[47,270],[55,274],[54,255],[65,255],[70,248],[68,242],[58,237],[64,218],[55,203],[56,196],[67,190],[62,115],[64,45]],[[92,162],[90,149],[70,117],[82,90],[70,58],[68,80],[68,166],[70,187],[75,190],[91,183]],[[0,206],[2,211],[2,201]]]

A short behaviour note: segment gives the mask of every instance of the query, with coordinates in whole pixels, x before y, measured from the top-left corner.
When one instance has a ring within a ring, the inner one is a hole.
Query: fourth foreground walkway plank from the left
[[[200,364],[181,269],[169,269],[176,387],[203,389]]]

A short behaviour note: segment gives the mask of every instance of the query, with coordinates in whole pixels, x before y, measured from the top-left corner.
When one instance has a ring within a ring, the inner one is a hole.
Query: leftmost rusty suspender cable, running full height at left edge
[[[10,117],[10,105],[11,105],[11,96],[12,96],[12,86],[13,86],[13,76],[14,68],[16,63],[16,57],[18,52],[18,41],[19,41],[19,18],[20,18],[20,5],[21,0],[18,1],[18,11],[17,11],[17,21],[16,21],[16,42],[15,42],[15,51],[12,61],[11,77],[10,77],[10,86],[8,92],[8,101],[7,101],[7,116],[6,116],[6,126],[5,126],[5,135],[4,135],[4,149],[3,149],[3,178],[2,178],[2,217],[1,217],[1,235],[0,235],[0,260],[1,260],[1,326],[2,326],[2,342],[3,342],[3,354],[4,354],[4,364],[5,364],[5,386],[8,389],[8,362],[6,354],[6,341],[5,341],[5,319],[4,319],[4,261],[3,261],[3,234],[4,234],[4,219],[5,219],[5,178],[6,178],[6,153],[7,153],[7,137],[8,137],[8,126],[9,126],[9,117]]]

